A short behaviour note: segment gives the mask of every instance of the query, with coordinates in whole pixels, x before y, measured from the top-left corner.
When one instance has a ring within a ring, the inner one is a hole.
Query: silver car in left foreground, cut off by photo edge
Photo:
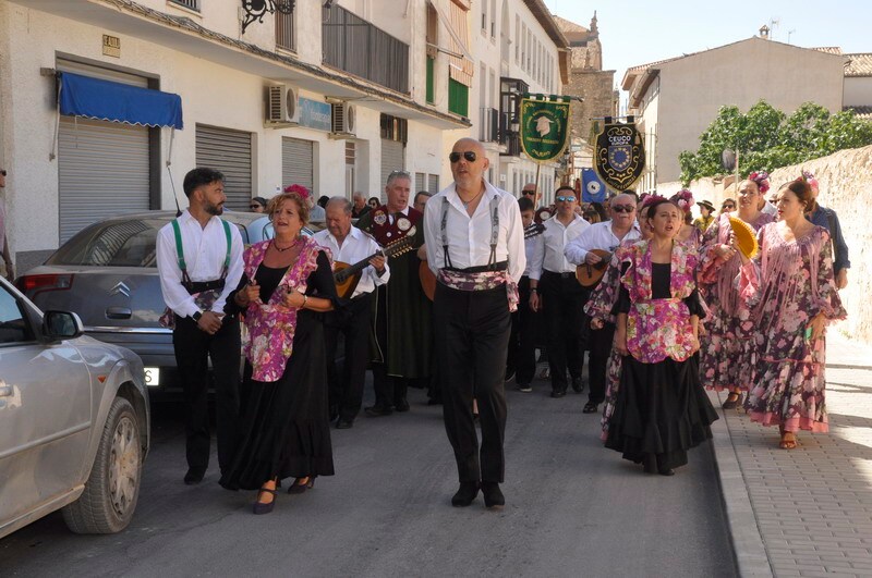
[[[123,530],[148,452],[142,360],[82,336],[0,279],[0,538],[63,508],[78,533]]]

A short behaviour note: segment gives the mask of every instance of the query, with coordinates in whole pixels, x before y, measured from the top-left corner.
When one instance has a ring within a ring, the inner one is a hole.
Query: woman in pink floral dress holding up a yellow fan
[[[701,251],[700,290],[708,306],[705,332],[701,335],[700,379],[710,390],[729,390],[725,409],[739,405],[742,391],[751,383],[751,335],[739,322],[740,302],[736,293],[736,275],[741,258],[730,244],[730,217],[737,217],[754,231],[774,218],[758,209],[768,180],[742,181],[739,184],[738,213],[722,213],[704,236]]]

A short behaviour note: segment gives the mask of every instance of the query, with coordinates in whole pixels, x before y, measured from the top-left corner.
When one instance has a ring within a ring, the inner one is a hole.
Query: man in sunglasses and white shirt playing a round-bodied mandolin
[[[608,212],[610,221],[592,224],[567,244],[564,253],[569,262],[576,266],[585,262],[592,266],[601,265],[604,259],[592,253],[594,249],[611,254],[621,243],[635,241],[641,236],[635,221],[635,198],[632,195],[625,193],[613,198]],[[590,346],[588,376],[591,389],[588,393],[588,403],[582,409],[585,414],[597,413],[600,404],[605,399],[606,364],[614,336],[614,323],[605,323],[602,329],[591,329],[588,340]]]

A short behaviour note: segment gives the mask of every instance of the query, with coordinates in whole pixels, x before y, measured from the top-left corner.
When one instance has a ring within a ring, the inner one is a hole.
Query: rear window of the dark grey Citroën
[[[46,265],[156,267],[157,232],[165,224],[159,219],[97,223],[64,243]]]

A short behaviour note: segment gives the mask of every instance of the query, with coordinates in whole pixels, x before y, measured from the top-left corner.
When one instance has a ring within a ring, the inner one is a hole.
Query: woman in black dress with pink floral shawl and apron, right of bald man
[[[676,241],[682,211],[657,200],[649,219],[653,238],[621,256],[615,347],[623,360],[605,445],[646,472],[671,476],[687,464],[689,448],[712,436],[717,414],[693,357],[702,307],[697,251]]]

